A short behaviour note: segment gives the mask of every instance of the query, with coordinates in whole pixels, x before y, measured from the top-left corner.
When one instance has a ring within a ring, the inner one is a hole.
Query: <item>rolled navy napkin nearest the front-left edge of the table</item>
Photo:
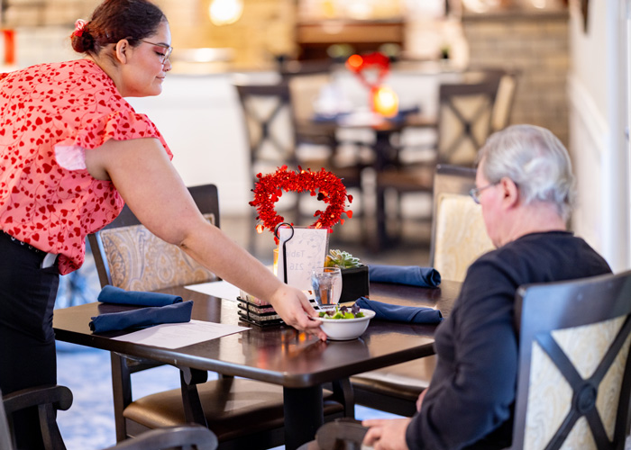
[[[141,310],[110,312],[92,318],[90,329],[95,333],[160,325],[160,323],[189,322],[193,301],[174,303]]]

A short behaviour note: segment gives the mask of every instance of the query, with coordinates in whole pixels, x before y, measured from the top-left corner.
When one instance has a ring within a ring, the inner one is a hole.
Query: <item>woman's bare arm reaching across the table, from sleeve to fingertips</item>
[[[283,284],[220,229],[209,224],[158,139],[108,140],[86,152],[87,170],[111,180],[153,234],[182,248],[216,275],[270,302],[286,323],[325,339],[301,291]]]

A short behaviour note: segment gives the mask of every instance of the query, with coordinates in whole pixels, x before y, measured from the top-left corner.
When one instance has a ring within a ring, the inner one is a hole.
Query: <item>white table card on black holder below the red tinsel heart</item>
[[[328,248],[328,229],[281,227],[279,228],[278,277],[284,281],[287,265],[287,283],[302,291],[311,290],[311,270],[325,265]]]

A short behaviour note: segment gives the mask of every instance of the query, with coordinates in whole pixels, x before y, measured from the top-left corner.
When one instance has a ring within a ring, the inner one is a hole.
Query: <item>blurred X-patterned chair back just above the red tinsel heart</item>
[[[250,148],[252,175],[297,166],[288,83],[236,85]]]

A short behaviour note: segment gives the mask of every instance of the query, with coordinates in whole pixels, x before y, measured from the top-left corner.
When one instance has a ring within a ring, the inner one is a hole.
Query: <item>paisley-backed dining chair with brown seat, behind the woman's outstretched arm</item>
[[[188,190],[206,219],[218,226],[216,186],[206,184]],[[88,239],[102,286],[154,291],[216,280],[177,246],[153,235],[126,206],[116,220]],[[118,441],[149,429],[194,422],[215,432],[220,449],[262,449],[283,444],[281,386],[221,375],[208,381],[205,371],[178,367],[179,390],[133,399],[132,375],[157,365],[160,363],[112,353]],[[343,404],[333,397],[333,392],[325,390],[326,418],[344,415]]]

